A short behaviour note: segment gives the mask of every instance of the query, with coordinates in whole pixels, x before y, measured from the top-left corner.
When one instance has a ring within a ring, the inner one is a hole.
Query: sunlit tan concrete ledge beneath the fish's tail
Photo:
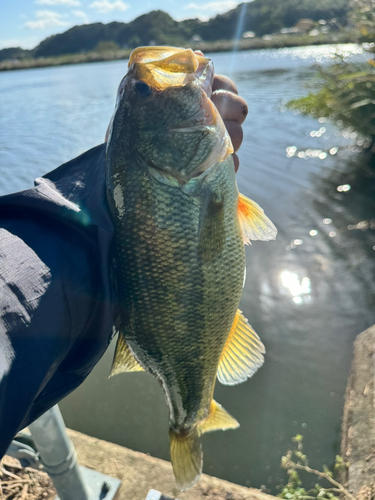
[[[68,429],[80,465],[121,479],[116,500],[145,500],[152,488],[179,500],[275,500],[254,488],[245,488],[202,474],[188,491],[180,492],[169,462]]]

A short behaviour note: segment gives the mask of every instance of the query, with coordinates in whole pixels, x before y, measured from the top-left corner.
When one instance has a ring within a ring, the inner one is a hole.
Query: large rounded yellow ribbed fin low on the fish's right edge
[[[221,354],[217,378],[224,385],[245,382],[262,366],[266,350],[238,309]]]

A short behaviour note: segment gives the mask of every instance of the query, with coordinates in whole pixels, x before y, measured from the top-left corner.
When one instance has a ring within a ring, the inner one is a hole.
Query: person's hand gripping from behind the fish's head
[[[238,95],[238,90],[234,82],[224,75],[215,75],[212,84],[211,100],[219,111],[221,118],[227,128],[231,138],[234,153],[234,169],[237,172],[240,161],[236,152],[241,146],[243,131],[241,125],[246,119],[248,108],[247,104]],[[107,142],[111,123],[108,125],[104,141]]]

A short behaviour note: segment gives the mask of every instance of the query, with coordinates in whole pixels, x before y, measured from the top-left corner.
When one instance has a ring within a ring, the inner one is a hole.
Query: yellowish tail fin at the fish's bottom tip
[[[171,462],[177,486],[181,491],[193,486],[202,473],[202,447],[197,428],[179,433],[169,430]]]

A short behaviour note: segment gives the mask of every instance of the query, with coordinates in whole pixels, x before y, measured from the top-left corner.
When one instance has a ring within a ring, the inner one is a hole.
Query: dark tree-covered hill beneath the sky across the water
[[[348,11],[349,0],[254,0],[202,22],[199,19],[175,21],[169,14],[157,10],[137,17],[130,23],[74,26],[64,33],[46,38],[30,51],[3,49],[0,50],[0,62],[12,58],[88,52],[97,49],[103,42],[112,42],[114,47],[119,48],[134,48],[149,44],[184,45],[191,43],[193,37],[194,40],[207,42],[231,40],[238,27],[240,36],[246,31],[262,36],[292,27],[302,18],[313,21],[335,18],[345,26]]]

